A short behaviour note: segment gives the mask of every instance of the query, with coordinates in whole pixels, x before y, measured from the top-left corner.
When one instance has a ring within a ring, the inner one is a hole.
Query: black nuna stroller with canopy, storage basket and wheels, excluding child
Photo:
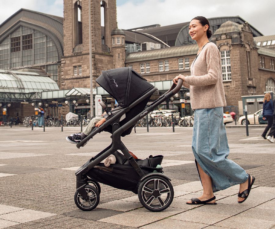
[[[149,98],[158,89],[142,78],[132,67],[102,71],[96,82],[112,95],[123,109],[112,114],[112,111],[109,111],[101,102],[101,106],[109,116],[107,121],[95,127],[90,135],[76,145],[80,148],[103,130],[112,134],[112,144],[76,171],[74,197],[76,206],[83,211],[95,209],[101,192],[99,183],[102,183],[138,194],[141,204],[152,212],[163,211],[169,207],[174,198],[171,179],[163,174],[160,166],[163,156],[150,155],[143,160],[135,159],[122,143],[121,136],[130,134],[141,118],[178,93],[182,86],[182,79],[179,79],[178,85],[173,84],[169,91],[148,106],[146,105]],[[105,167],[101,161],[111,154],[115,155],[116,163]]]

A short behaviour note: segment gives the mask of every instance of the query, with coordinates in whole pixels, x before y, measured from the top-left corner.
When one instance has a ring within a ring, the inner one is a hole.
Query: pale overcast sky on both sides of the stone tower
[[[20,8],[63,17],[63,0],[0,0],[0,6],[0,24]],[[195,16],[238,15],[263,35],[275,35],[274,9],[275,0],[117,0],[117,21],[119,28],[130,29],[178,24]]]

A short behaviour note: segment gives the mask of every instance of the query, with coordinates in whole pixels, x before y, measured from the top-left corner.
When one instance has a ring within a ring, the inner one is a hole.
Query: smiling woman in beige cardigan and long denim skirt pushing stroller
[[[187,204],[216,204],[214,192],[240,184],[238,203],[246,200],[255,181],[235,162],[229,160],[229,147],[223,124],[223,107],[226,106],[220,69],[220,52],[209,42],[212,33],[209,21],[202,16],[192,19],[189,35],[199,46],[191,65],[191,76],[178,75],[190,88],[191,106],[194,110],[192,150],[203,194]]]

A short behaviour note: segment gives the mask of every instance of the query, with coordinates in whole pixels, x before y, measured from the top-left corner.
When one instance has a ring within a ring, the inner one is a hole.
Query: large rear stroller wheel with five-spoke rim
[[[152,212],[167,209],[173,201],[174,189],[169,180],[162,176],[150,176],[138,187],[138,198],[141,204]]]

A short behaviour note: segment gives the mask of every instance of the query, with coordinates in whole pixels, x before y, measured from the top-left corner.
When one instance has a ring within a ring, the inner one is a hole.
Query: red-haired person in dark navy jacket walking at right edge
[[[266,129],[264,130],[264,132],[262,133],[262,137],[264,139],[267,139],[266,134],[272,126],[273,112],[274,112],[273,101],[271,100],[270,93],[265,94],[262,109],[263,109],[262,110],[263,120],[267,120],[267,126],[266,126]]]

